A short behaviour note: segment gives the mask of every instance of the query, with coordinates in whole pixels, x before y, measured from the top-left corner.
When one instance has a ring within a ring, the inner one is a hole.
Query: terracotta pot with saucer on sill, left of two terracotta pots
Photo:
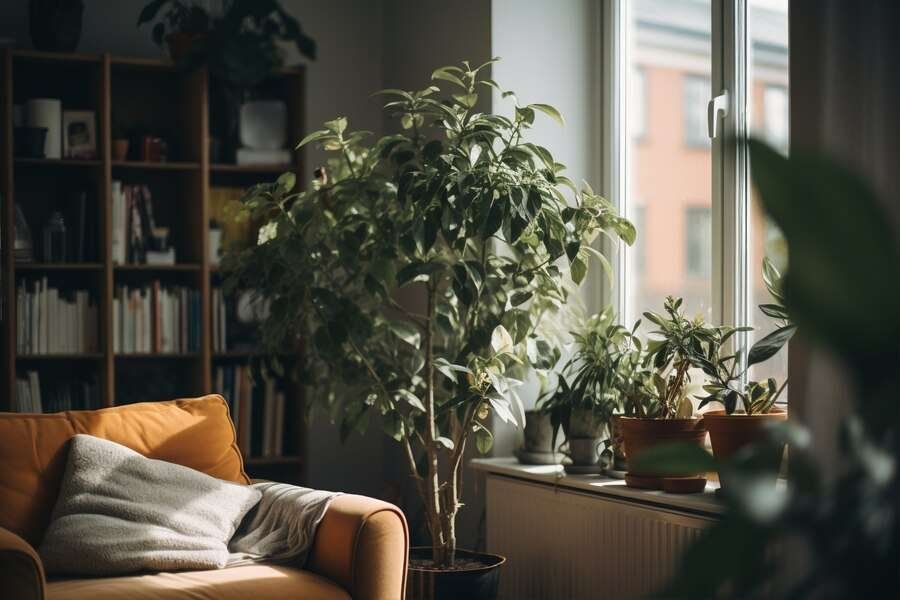
[[[706,440],[706,429],[702,419],[641,419],[636,417],[619,417],[622,436],[625,441],[625,456],[628,474],[625,483],[631,487],[663,489],[663,480],[667,478],[682,480],[678,486],[670,487],[671,491],[702,491],[705,477],[702,473],[659,473],[653,471],[636,472],[632,469],[635,456],[642,451],[656,446],[676,442],[696,444],[703,447]],[[694,485],[683,480],[689,478]],[[677,489],[676,489],[677,487]]]

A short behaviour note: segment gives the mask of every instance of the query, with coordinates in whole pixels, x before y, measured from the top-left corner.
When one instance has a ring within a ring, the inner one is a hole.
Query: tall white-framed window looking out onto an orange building
[[[788,3],[604,3],[605,51],[617,61],[608,71],[605,122],[610,131],[618,123],[628,128],[608,140],[608,186],[638,223],[637,242],[624,249],[612,288],[624,323],[659,310],[673,295],[684,299],[690,316],[753,326],[734,336],[735,349],[772,330],[758,308],[770,301],[762,263],[768,257],[784,265],[784,240],[755,197],[745,143],[752,135],[788,148]],[[713,90],[728,93],[729,110],[711,141]],[[749,372],[756,380],[786,376],[787,348]]]

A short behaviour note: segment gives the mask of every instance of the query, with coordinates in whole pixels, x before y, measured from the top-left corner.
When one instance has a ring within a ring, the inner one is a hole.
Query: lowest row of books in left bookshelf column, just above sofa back
[[[26,371],[25,377],[17,377],[16,412],[51,413],[99,406],[100,386],[96,377],[84,380],[53,378],[52,382],[42,393],[37,371]]]

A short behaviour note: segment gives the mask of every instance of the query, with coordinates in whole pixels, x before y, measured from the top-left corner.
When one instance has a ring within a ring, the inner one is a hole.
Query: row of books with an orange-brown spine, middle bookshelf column
[[[183,354],[200,351],[200,292],[163,286],[116,286],[113,351],[123,354]]]

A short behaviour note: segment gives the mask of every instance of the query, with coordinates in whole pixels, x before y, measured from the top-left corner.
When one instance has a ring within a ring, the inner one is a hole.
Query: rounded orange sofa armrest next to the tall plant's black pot
[[[387,502],[346,494],[332,500],[316,531],[308,568],[340,584],[353,600],[406,594],[409,532]]]

